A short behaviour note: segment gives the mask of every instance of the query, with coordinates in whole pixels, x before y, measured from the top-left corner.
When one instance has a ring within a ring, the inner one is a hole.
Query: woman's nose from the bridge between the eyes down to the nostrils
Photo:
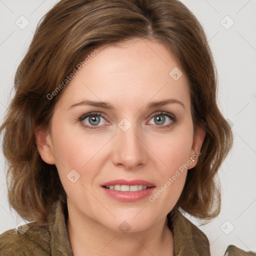
[[[145,163],[146,147],[141,141],[141,132],[136,123],[131,123],[128,119],[123,118],[118,123],[116,133],[114,163],[123,164],[126,168],[134,168],[138,164]]]

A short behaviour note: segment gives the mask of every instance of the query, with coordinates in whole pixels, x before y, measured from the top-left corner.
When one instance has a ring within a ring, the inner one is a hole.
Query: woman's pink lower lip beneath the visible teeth
[[[119,201],[133,202],[149,196],[153,192],[155,186],[138,191],[118,191],[114,189],[108,189],[103,186],[101,186],[101,188],[103,188],[107,195],[113,197],[114,199]]]

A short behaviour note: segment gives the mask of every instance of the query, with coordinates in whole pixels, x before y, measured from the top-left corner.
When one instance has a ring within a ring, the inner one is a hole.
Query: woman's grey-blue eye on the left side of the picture
[[[79,117],[79,121],[86,128],[95,129],[98,128],[98,126],[105,124],[106,119],[100,112],[90,112]]]

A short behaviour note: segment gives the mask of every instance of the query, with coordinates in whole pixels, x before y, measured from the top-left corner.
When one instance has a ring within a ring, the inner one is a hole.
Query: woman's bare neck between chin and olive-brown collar
[[[67,232],[74,256],[173,255],[173,235],[166,217],[146,230],[122,233],[68,207]]]

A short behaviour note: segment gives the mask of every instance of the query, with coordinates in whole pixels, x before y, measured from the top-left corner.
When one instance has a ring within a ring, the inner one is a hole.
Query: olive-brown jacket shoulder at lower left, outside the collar
[[[0,255],[50,255],[49,229],[26,223],[0,234]]]

